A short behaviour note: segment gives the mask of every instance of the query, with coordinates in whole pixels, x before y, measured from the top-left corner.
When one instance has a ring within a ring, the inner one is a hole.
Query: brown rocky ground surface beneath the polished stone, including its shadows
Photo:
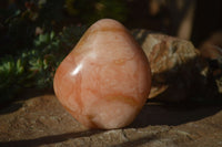
[[[0,147],[221,147],[222,106],[147,103],[130,126],[89,130],[54,95],[0,111]]]

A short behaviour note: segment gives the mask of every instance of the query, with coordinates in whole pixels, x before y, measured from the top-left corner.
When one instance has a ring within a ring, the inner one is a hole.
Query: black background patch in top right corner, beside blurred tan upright
[[[198,0],[191,41],[195,45],[222,30],[222,1]]]

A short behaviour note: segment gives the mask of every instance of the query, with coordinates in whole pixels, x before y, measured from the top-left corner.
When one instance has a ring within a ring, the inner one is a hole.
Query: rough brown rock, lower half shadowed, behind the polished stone
[[[150,61],[150,98],[181,101],[189,96],[205,95],[208,63],[191,42],[147,30],[133,30],[132,34]]]

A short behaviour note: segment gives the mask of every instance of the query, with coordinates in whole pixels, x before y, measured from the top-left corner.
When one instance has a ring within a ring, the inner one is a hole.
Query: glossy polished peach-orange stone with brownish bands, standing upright
[[[54,92],[65,109],[89,128],[120,128],[135,118],[151,88],[148,59],[118,21],[91,25],[62,61]]]

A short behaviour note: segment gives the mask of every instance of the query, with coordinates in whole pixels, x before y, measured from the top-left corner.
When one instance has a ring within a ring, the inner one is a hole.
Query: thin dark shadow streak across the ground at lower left
[[[0,147],[38,147],[41,145],[50,145],[56,143],[65,141],[68,139],[74,139],[79,137],[88,137],[94,134],[100,134],[102,130],[85,130],[79,133],[68,133],[60,135],[46,136],[34,139],[0,141]]]

